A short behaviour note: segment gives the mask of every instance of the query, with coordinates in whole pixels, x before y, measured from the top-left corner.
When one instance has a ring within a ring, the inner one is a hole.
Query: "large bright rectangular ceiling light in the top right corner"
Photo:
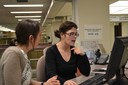
[[[128,1],[117,1],[109,5],[110,14],[128,14]]]

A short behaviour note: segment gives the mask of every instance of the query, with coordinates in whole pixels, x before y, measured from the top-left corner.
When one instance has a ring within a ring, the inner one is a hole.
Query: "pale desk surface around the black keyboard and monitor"
[[[93,77],[94,75],[94,73],[93,73],[93,70],[94,69],[100,69],[100,68],[107,68],[107,65],[91,65],[91,73],[90,73],[90,76],[89,77],[86,77],[86,76],[84,76],[84,75],[81,75],[81,76],[79,76],[79,77],[76,77],[76,78],[74,78],[74,79],[72,79],[73,81],[75,81],[77,84],[80,84],[80,83],[82,83],[82,82],[84,82],[85,80],[87,80],[87,79],[89,79],[89,78],[91,78],[91,77]],[[100,72],[100,73],[105,73],[105,72]],[[128,69],[126,69],[125,70],[125,74],[126,74],[126,76],[128,77]],[[108,84],[105,84],[105,85],[108,85]]]

